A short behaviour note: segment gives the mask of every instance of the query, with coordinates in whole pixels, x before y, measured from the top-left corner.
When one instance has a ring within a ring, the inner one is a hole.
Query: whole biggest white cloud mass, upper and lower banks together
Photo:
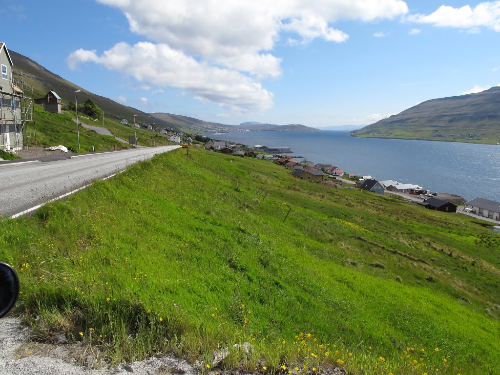
[[[408,12],[402,0],[97,1],[121,10],[130,30],[152,42],[137,43],[133,61],[121,43],[102,54],[80,48],[68,56],[70,68],[95,62],[144,84],[182,88],[245,111],[272,106],[272,93],[259,81],[282,74],[281,58],[272,52],[280,37],[290,44],[316,38],[343,42],[348,35],[333,27],[336,21],[393,19]]]

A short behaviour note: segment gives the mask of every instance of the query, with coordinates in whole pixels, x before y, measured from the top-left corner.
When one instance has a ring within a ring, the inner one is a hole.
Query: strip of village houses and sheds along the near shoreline
[[[401,183],[395,180],[378,180],[371,175],[358,176],[347,173],[336,165],[314,163],[303,156],[287,156],[291,149],[285,146],[246,146],[233,144],[222,140],[213,140],[204,143],[204,148],[210,151],[241,156],[255,157],[267,160],[290,170],[293,177],[308,181],[332,184],[336,187],[348,185],[377,194],[393,193],[402,196],[408,202],[417,203],[427,209],[442,212],[476,214],[491,221],[500,222],[500,202],[484,198],[474,198],[466,201],[459,195],[443,192],[430,192],[418,184]],[[459,209],[459,206],[463,206]],[[493,231],[500,232],[500,225],[494,226]]]

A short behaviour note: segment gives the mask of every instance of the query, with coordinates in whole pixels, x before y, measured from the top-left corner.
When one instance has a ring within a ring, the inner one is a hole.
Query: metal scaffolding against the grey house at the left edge
[[[2,79],[0,85],[0,149],[21,150],[36,142],[33,86],[19,79]]]

